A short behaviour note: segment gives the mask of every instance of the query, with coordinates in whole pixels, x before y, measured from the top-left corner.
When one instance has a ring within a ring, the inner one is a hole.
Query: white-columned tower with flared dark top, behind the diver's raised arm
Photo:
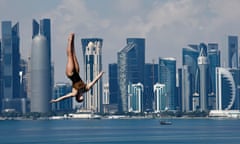
[[[82,39],[84,75],[87,83],[102,71],[102,45],[100,38]],[[84,107],[94,112],[102,112],[102,79],[86,93]]]

